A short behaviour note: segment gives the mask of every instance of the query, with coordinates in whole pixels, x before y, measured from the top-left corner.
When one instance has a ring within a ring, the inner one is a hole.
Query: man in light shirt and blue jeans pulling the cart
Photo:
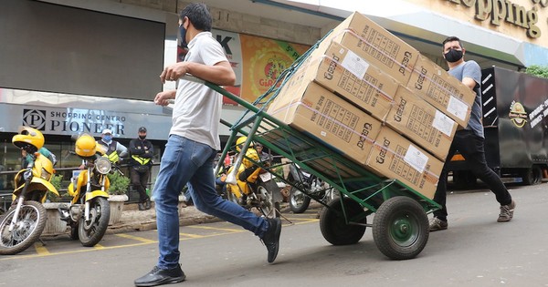
[[[163,69],[160,80],[176,81],[176,90],[156,94],[154,103],[167,106],[174,99],[173,125],[154,183],[153,199],[158,226],[159,257],[151,272],[134,281],[136,286],[183,282],[179,263],[178,197],[184,185],[197,210],[253,232],[267,247],[273,262],[279,251],[281,221],[258,217],[237,203],[223,200],[215,189],[212,169],[221,143],[218,134],[223,97],[215,90],[183,76],[191,74],[220,86],[233,86],[236,74],[223,46],[211,33],[213,18],[203,3],[186,5],[179,15],[181,38],[188,45],[184,61]],[[195,263],[195,262],[193,262]]]

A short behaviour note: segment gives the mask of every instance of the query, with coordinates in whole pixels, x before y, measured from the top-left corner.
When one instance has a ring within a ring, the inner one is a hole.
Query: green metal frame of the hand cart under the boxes
[[[184,78],[203,83],[205,86],[216,90],[216,92],[230,98],[245,108],[244,114],[247,114],[247,117],[243,115],[236,123],[230,124],[225,120],[221,120],[224,125],[231,129],[231,134],[227,140],[226,148],[223,149],[221,159],[224,159],[228,152],[236,150],[234,143],[239,136],[248,137],[242,150],[248,149],[251,142],[261,143],[274,153],[290,159],[291,162],[299,165],[300,169],[304,169],[319,179],[324,180],[334,189],[339,190],[342,197],[348,197],[358,202],[364,208],[364,214],[360,215],[357,219],[349,219],[346,210],[344,210],[341,197],[342,213],[347,223],[353,224],[353,222],[359,222],[364,216],[375,212],[385,200],[395,196],[414,198],[427,213],[441,208],[434,200],[428,199],[401,181],[380,178],[351,159],[344,158],[337,149],[326,146],[325,143],[313,138],[313,136],[308,135],[306,132],[291,128],[278,119],[271,117],[263,108],[256,106],[257,104],[248,103],[246,100],[229,93],[224,88],[196,77],[185,76]],[[238,158],[240,163],[242,157],[245,156],[244,154],[240,153],[240,157]],[[236,160],[236,165],[239,165],[238,159]],[[262,169],[266,169],[272,174],[277,175],[279,180],[311,196],[312,199],[320,200],[310,194],[308,190],[294,185],[293,182],[284,179],[283,176],[277,173],[279,167],[284,165],[283,163],[268,167],[263,166],[260,162],[255,163]],[[220,163],[217,169],[219,167]],[[327,206],[327,202],[319,202]]]

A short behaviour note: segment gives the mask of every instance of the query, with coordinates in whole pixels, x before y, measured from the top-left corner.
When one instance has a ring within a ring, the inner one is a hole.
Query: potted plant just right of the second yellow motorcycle
[[[111,186],[107,190],[110,194],[109,202],[111,203],[111,219],[109,220],[109,224],[114,224],[120,222],[123,204],[128,200],[126,192],[130,186],[130,179],[119,172],[111,173],[108,177],[111,181]]]

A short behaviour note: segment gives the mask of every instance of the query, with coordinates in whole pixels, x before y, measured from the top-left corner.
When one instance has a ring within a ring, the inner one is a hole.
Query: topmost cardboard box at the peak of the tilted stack
[[[319,48],[325,50],[330,41],[351,49],[402,84],[411,77],[419,55],[415,48],[358,12],[336,26]]]

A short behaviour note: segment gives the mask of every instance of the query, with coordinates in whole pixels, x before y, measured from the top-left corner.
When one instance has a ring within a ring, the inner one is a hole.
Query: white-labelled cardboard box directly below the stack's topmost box
[[[312,80],[380,120],[388,115],[398,85],[392,77],[336,42],[330,43],[325,52],[309,56],[285,85],[307,85]]]

